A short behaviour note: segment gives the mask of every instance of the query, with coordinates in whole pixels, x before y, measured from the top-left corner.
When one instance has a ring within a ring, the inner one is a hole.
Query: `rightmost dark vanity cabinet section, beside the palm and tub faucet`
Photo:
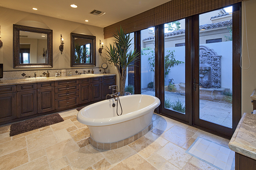
[[[106,94],[112,94],[112,89],[109,89],[112,85],[116,85],[115,76],[102,77],[102,99],[106,99]]]

